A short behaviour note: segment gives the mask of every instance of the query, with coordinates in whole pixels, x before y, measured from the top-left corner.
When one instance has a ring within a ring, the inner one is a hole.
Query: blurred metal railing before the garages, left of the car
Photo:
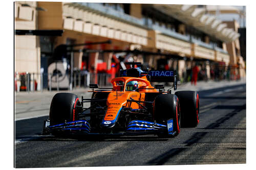
[[[35,72],[15,72],[15,91],[45,91],[45,90],[74,90],[77,88],[88,88],[89,84],[98,84],[99,87],[112,86],[111,79],[115,77],[106,73],[90,73],[82,70],[73,72],[73,81],[70,74],[46,74]],[[66,79],[66,80],[65,80]]]

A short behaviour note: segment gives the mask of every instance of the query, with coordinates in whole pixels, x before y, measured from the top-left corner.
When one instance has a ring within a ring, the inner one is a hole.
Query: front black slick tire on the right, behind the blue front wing
[[[175,94],[159,94],[154,101],[154,119],[157,123],[167,125],[167,120],[173,118],[174,133],[177,136],[180,133],[181,114],[179,99]],[[167,137],[168,132],[158,134],[159,137]],[[171,135],[172,136],[172,135]]]

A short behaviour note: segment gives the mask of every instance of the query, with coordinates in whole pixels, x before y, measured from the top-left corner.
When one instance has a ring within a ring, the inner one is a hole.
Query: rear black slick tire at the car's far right
[[[180,101],[182,127],[197,127],[200,120],[198,93],[196,91],[177,91],[175,95]]]

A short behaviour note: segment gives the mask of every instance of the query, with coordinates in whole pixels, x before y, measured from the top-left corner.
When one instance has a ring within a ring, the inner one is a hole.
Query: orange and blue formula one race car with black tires
[[[91,99],[78,99],[72,93],[54,95],[49,119],[43,134],[177,136],[182,127],[199,124],[199,95],[196,91],[171,94],[164,85],[151,82],[173,82],[176,71],[141,69],[140,63],[126,63],[132,68],[120,70],[111,80],[112,88],[90,84]],[[135,68],[135,66],[137,66]],[[84,108],[84,103],[90,107]]]

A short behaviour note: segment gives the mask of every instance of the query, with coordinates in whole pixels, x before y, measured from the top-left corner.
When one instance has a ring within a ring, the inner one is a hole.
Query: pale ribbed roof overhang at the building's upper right
[[[231,29],[223,31],[226,24],[215,16],[205,14],[205,9],[196,8],[196,5],[153,4],[153,7],[224,42],[234,41],[240,36]]]

